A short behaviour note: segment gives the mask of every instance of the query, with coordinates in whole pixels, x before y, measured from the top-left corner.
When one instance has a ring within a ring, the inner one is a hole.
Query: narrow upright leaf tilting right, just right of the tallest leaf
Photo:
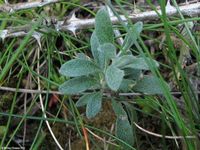
[[[137,38],[142,32],[142,28],[142,22],[137,22],[129,28],[129,32],[127,33],[123,43],[124,50],[128,50],[136,42]]]

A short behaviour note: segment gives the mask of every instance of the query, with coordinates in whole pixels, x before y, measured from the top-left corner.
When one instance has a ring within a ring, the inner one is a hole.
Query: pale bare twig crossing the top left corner
[[[4,4],[0,5],[0,12],[14,13],[19,10],[43,7],[45,5],[58,3],[60,0],[40,0],[35,2],[17,3],[17,4]]]

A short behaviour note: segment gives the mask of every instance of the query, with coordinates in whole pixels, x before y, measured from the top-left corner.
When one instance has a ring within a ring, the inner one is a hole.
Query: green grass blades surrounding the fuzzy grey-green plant
[[[116,1],[118,9],[120,12],[127,17],[127,11],[123,8],[126,5],[126,1]],[[173,3],[176,6],[175,0]],[[130,8],[134,8],[133,4],[128,3]],[[153,4],[149,2],[149,5],[154,9]],[[118,139],[114,135],[114,131],[110,129],[105,129],[106,124],[101,124],[101,128],[97,128],[94,122],[89,122],[85,119],[85,114],[83,113],[83,108],[78,109],[75,106],[76,97],[69,96],[59,96],[59,101],[56,102],[55,106],[49,107],[49,101],[52,98],[52,94],[42,94],[43,103],[45,105],[45,110],[47,112],[47,119],[44,118],[39,102],[39,94],[26,94],[18,93],[19,88],[37,89],[38,88],[38,78],[40,79],[40,86],[42,89],[47,91],[58,90],[58,86],[67,80],[61,77],[58,70],[60,66],[67,60],[73,59],[77,53],[83,52],[90,55],[90,45],[89,38],[92,29],[80,30],[77,32],[76,37],[69,32],[55,31],[53,27],[45,27],[50,32],[44,33],[41,38],[42,48],[40,50],[40,58],[37,59],[38,43],[31,37],[34,30],[42,27],[40,20],[48,16],[56,16],[62,19],[71,12],[74,8],[80,8],[82,11],[95,16],[93,10],[80,4],[80,1],[74,0],[71,2],[62,2],[55,5],[45,6],[44,8],[49,8],[51,11],[47,11],[43,8],[36,8],[30,10],[23,10],[16,12],[14,14],[0,14],[1,30],[6,29],[9,26],[21,26],[30,23],[33,18],[37,18],[37,23],[33,24],[30,32],[25,37],[15,37],[7,38],[2,41],[1,52],[0,52],[0,86],[14,87],[16,92],[14,96],[10,95],[11,100],[10,108],[3,109],[0,107],[0,125],[6,127],[6,132],[3,137],[0,137],[0,147],[5,146],[16,146],[14,139],[19,135],[23,135],[24,125],[26,121],[27,127],[30,124],[34,124],[36,129],[31,135],[31,143],[28,146],[30,149],[47,148],[46,144],[49,146],[56,146],[54,141],[51,139],[51,135],[47,129],[45,121],[48,121],[53,128],[56,124],[63,124],[62,130],[68,133],[72,133],[71,143],[76,140],[82,140],[85,142],[85,135],[83,134],[83,128],[88,128],[97,134],[101,138],[106,138],[112,143],[118,146],[113,146],[108,143],[103,143],[103,141],[98,140],[92,134],[87,132],[88,139],[90,141],[91,149],[102,149],[103,146],[108,146],[110,149],[120,149],[120,143],[125,144],[130,149],[145,149],[150,146],[152,149],[156,149],[155,141],[163,145],[163,149],[168,149],[172,146],[174,149],[181,149],[186,147],[187,149],[198,149],[198,139],[188,139],[183,138],[182,140],[168,140],[165,137],[155,138],[151,135],[140,131],[134,123],[139,124],[141,127],[148,127],[151,121],[157,121],[158,124],[152,123],[156,130],[152,132],[157,132],[163,136],[199,136],[199,123],[200,123],[200,106],[199,106],[199,96],[195,93],[195,87],[190,82],[191,74],[186,72],[182,68],[182,64],[179,62],[178,49],[175,47],[176,43],[172,39],[172,35],[180,39],[182,45],[185,46],[186,50],[190,49],[189,53],[192,55],[194,62],[199,64],[200,60],[200,36],[199,33],[193,33],[193,31],[188,27],[187,22],[197,22],[199,23],[198,17],[184,18],[184,16],[179,11],[179,16],[174,19],[169,19],[165,14],[165,3],[160,1],[161,10],[163,15],[160,15],[160,21],[145,23],[144,30],[141,38],[135,43],[135,46],[131,48],[131,51],[135,54],[140,54],[141,56],[148,56],[149,58],[159,59],[161,68],[156,68],[151,59],[146,59],[151,68],[152,74],[159,77],[159,83],[161,89],[163,90],[162,96],[136,96],[136,97],[119,97],[118,100],[121,101],[125,110],[129,115],[129,120],[132,123],[135,145],[132,147],[125,143],[124,141]],[[178,6],[176,6],[178,8]],[[118,15],[117,11],[113,7],[114,13]],[[119,16],[118,16],[119,17]],[[120,19],[120,18],[119,18]],[[130,25],[133,23],[129,20]],[[183,24],[186,29],[187,36],[184,36],[179,32],[179,24]],[[44,27],[44,26],[43,26]],[[124,33],[129,32],[126,25],[121,22],[119,25],[120,31],[122,32],[122,37]],[[149,32],[164,34],[166,40],[162,45],[162,49],[156,50],[154,54],[149,50],[149,47],[145,45],[145,40],[155,40],[155,43],[160,44],[160,40],[155,39],[156,37],[149,36]],[[118,46],[120,50],[120,46]],[[177,54],[178,53],[178,54]],[[181,54],[181,53],[180,53]],[[146,58],[146,57],[145,57]],[[167,61],[164,60],[167,58]],[[40,64],[40,74],[38,74],[37,64]],[[199,65],[197,65],[197,70],[199,70]],[[170,76],[169,76],[170,75]],[[28,79],[27,77],[30,77]],[[168,76],[166,78],[166,76]],[[197,76],[197,75],[196,75]],[[197,77],[198,80],[198,77]],[[176,84],[177,89],[182,94],[182,102],[184,105],[183,114],[177,105],[177,101],[171,91],[168,90],[163,81],[172,82]],[[31,87],[32,86],[32,87]],[[0,97],[9,94],[8,91],[0,91]],[[1,99],[3,101],[4,99]],[[24,103],[26,103],[26,112],[24,113]],[[22,108],[22,112],[18,108]],[[37,112],[33,115],[29,114],[33,112],[33,108],[37,108]],[[151,120],[151,121],[149,121]],[[17,122],[17,124],[16,124]],[[114,123],[114,121],[113,121]],[[98,124],[98,123],[97,123]],[[159,127],[158,127],[159,126]],[[27,128],[28,130],[28,128]],[[67,137],[68,135],[62,135],[62,132],[56,133],[58,136]],[[63,132],[65,133],[65,132]],[[28,134],[28,133],[26,133]],[[70,137],[69,136],[69,137]],[[28,136],[27,136],[28,137]],[[46,138],[51,139],[47,141]],[[152,141],[152,139],[154,141]],[[48,143],[49,142],[49,143]],[[66,143],[61,142],[64,147]],[[154,143],[155,142],[155,143]],[[45,144],[46,143],[46,144]],[[145,143],[145,144],[144,144]],[[105,145],[104,145],[105,144]]]

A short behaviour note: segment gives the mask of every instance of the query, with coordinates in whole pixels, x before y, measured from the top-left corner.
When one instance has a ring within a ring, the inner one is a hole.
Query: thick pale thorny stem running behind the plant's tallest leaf
[[[58,0],[54,0],[58,1]],[[52,1],[49,1],[52,2]],[[186,16],[193,16],[193,15],[199,15],[200,14],[200,2],[194,3],[194,4],[189,4],[189,5],[184,5],[179,7],[180,11],[182,12],[183,15]],[[161,10],[158,10],[158,13],[161,14]],[[175,16],[178,14],[176,8],[170,8],[166,10],[166,14],[169,17]],[[155,20],[159,19],[159,16],[155,11],[147,11],[147,12],[142,12],[142,13],[134,13],[130,14],[129,18],[133,22],[137,21],[150,21],[150,20]],[[121,15],[121,19],[123,21],[127,21],[126,17]],[[118,24],[119,20],[117,17],[112,16],[111,21],[113,24]],[[33,22],[34,23],[34,22]],[[31,24],[33,24],[31,23]],[[67,20],[67,21],[56,21],[52,24],[54,26],[56,31],[71,31],[73,33],[76,32],[78,29],[86,29],[93,27],[95,24],[95,18],[92,19],[78,19],[75,17],[75,15],[72,15],[72,17]],[[47,32],[46,29],[39,29],[42,32]],[[5,39],[7,37],[18,37],[18,36],[25,36],[28,34],[27,30],[24,30],[24,28],[21,28],[19,30],[19,27],[17,28],[17,31],[14,29],[5,29],[0,31],[0,38]]]

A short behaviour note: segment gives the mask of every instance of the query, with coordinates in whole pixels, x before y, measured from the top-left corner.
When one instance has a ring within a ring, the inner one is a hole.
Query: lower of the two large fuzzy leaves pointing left
[[[60,85],[59,91],[63,94],[78,94],[97,85],[98,82],[93,78],[76,77]]]

